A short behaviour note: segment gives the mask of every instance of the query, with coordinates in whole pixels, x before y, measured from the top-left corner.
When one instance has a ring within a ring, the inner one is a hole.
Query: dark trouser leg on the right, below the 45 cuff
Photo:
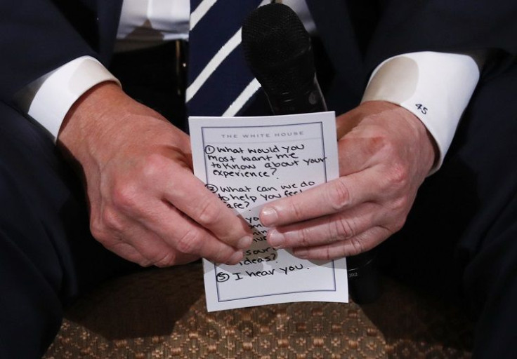
[[[428,177],[383,268],[476,319],[473,358],[515,358],[517,66],[480,86],[443,168]]]

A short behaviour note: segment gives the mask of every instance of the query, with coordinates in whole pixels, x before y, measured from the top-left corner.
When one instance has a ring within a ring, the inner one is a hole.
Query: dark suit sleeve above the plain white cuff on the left
[[[0,14],[3,102],[11,103],[20,88],[74,58],[98,57],[84,36],[96,36],[96,15],[77,1],[1,1]]]

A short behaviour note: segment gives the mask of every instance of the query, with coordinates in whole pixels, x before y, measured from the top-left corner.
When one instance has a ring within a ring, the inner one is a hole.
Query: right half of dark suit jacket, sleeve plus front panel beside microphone
[[[487,69],[502,72],[514,62],[515,0],[353,1],[307,0],[335,70],[327,104],[339,114],[359,104],[369,74],[394,55],[492,49]],[[362,5],[367,11],[358,11]]]

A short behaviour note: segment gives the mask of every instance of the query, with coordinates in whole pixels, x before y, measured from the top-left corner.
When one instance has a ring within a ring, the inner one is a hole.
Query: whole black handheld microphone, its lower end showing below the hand
[[[242,24],[242,50],[266,93],[273,114],[327,111],[314,63],[310,35],[298,15],[282,4],[256,8]],[[347,258],[348,287],[356,303],[380,294],[373,252]]]

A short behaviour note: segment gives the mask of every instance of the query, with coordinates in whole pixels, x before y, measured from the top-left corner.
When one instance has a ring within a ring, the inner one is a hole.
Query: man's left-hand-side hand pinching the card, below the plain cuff
[[[74,104],[58,142],[84,173],[93,236],[117,255],[236,264],[251,244],[244,220],[192,174],[188,136],[114,83]]]

